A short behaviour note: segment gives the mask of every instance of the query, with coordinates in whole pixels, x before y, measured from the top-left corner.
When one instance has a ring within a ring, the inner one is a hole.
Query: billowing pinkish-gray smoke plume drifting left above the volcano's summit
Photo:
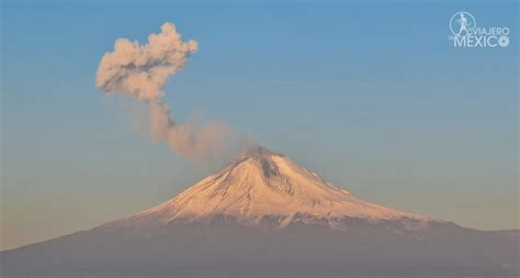
[[[197,42],[182,41],[176,25],[165,23],[159,34],[150,34],[148,44],[115,41],[114,51],[101,59],[95,85],[108,93],[121,93],[143,101],[149,108],[150,136],[167,143],[182,157],[196,158],[222,151],[229,127],[219,122],[203,126],[177,123],[161,100],[168,78],[185,67]]]

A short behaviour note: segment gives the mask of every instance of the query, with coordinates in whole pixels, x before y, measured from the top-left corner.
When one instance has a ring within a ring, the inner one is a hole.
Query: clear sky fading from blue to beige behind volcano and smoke
[[[204,108],[360,198],[518,229],[518,2],[414,2],[2,1],[0,248],[135,213],[223,166],[150,143],[133,104],[95,88],[116,38],[167,21],[200,44],[166,88],[177,120]],[[453,48],[460,10],[509,26],[510,46]]]

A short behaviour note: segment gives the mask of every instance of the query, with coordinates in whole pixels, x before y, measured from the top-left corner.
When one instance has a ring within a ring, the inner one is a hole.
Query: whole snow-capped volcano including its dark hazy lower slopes
[[[519,231],[462,227],[355,198],[264,147],[177,197],[1,253],[2,277],[519,275]]]

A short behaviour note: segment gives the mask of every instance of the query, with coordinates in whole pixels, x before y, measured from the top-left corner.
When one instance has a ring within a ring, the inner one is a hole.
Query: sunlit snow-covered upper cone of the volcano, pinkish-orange
[[[284,155],[257,147],[173,199],[109,225],[207,221],[216,215],[249,225],[269,219],[280,227],[301,222],[341,229],[346,218],[398,220],[410,227],[431,221],[360,200]]]

